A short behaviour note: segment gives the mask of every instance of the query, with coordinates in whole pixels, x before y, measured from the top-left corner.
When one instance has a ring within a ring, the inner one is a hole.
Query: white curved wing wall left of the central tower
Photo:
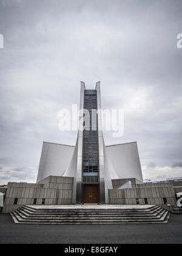
[[[48,176],[62,176],[72,160],[75,146],[44,142],[37,182]]]

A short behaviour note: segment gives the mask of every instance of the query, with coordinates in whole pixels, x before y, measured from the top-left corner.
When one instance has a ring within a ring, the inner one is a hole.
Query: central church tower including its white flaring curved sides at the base
[[[107,204],[112,179],[117,179],[104,145],[100,82],[86,90],[81,82],[79,130],[75,151],[64,176],[74,177],[73,204]]]

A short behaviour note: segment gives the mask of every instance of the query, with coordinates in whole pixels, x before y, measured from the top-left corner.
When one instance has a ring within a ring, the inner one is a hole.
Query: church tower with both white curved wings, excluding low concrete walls
[[[47,176],[73,177],[73,204],[109,204],[113,179],[143,182],[137,144],[105,146],[100,82],[95,90],[86,90],[81,82],[79,108],[76,146],[43,143],[37,182]]]

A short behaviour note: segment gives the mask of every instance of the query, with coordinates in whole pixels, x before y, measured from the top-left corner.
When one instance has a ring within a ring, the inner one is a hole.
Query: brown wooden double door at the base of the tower
[[[83,204],[98,204],[99,203],[99,187],[98,185],[83,185],[82,191]]]

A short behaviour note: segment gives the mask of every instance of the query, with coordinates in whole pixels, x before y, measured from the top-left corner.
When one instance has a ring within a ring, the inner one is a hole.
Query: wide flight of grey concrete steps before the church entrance
[[[24,224],[152,224],[167,223],[170,213],[157,205],[145,208],[110,207],[99,208],[87,205],[80,208],[41,208],[22,206],[12,213],[15,223]]]

